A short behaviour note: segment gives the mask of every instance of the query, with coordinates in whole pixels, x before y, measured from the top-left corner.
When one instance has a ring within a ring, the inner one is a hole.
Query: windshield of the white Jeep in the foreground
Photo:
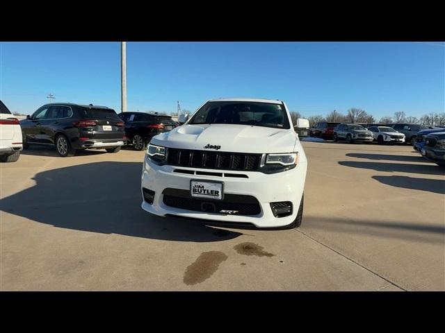
[[[188,124],[230,123],[236,125],[291,128],[282,104],[257,102],[209,102]]]

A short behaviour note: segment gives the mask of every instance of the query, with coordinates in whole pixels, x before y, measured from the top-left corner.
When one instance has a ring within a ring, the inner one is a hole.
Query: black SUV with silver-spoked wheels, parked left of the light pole
[[[88,148],[117,153],[125,140],[124,122],[115,110],[92,104],[45,104],[20,126],[24,149],[30,144],[54,145],[63,157]]]

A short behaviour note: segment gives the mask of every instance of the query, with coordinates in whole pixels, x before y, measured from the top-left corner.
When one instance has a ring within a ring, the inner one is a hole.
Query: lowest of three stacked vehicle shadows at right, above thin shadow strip
[[[414,178],[406,176],[372,176],[382,184],[401,187],[403,189],[419,189],[438,194],[445,194],[445,180]]]

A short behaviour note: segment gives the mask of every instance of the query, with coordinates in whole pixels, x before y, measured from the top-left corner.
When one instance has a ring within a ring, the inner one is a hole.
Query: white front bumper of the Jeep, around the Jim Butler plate
[[[196,176],[185,173],[175,173],[173,172],[175,169],[204,172],[216,171],[214,169],[195,169],[173,167],[170,165],[159,166],[145,157],[141,176],[141,196],[143,198],[143,188],[152,190],[155,194],[152,204],[143,200],[141,205],[143,210],[159,216],[172,214],[191,219],[204,219],[230,223],[252,223],[259,228],[274,228],[289,225],[296,219],[303,189],[305,187],[307,162],[298,163],[297,167],[289,171],[273,174],[265,174],[255,171],[229,171],[229,173],[242,173],[248,176],[248,178]],[[224,173],[224,171],[218,172]],[[236,214],[183,210],[165,205],[162,194],[164,189],[182,189],[190,191],[191,179],[223,182],[224,194],[253,196],[258,200],[261,212],[253,216],[242,216]],[[293,210],[291,215],[284,217],[274,216],[272,209],[270,208],[270,203],[280,201],[290,201],[292,203]]]

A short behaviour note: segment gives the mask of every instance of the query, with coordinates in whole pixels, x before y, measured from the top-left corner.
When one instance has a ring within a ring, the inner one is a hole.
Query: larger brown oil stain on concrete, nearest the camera
[[[187,267],[186,273],[184,273],[184,283],[191,285],[207,280],[225,260],[227,260],[227,255],[219,251],[201,253],[195,262]]]

